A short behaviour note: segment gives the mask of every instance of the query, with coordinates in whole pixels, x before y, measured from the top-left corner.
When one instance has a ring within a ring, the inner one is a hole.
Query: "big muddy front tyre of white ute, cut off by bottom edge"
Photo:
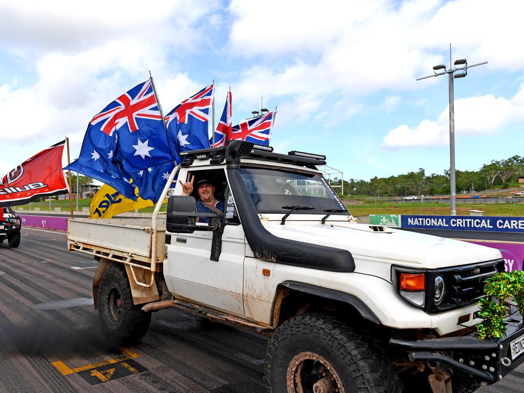
[[[268,344],[268,393],[401,393],[378,341],[324,314],[283,323]]]

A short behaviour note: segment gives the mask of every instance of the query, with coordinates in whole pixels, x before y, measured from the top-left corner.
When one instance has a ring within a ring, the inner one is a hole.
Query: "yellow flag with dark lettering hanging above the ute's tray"
[[[135,195],[138,196],[137,188],[135,188]],[[110,219],[118,213],[147,208],[147,206],[153,205],[154,203],[151,200],[142,199],[140,197],[138,197],[138,200],[135,202],[126,198],[110,185],[104,184],[100,187],[100,190],[97,191],[91,201],[91,206],[89,207],[89,218]]]

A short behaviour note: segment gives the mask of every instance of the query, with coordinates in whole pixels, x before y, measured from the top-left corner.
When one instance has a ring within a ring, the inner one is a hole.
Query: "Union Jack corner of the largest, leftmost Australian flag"
[[[130,132],[135,132],[138,129],[137,118],[162,119],[151,80],[140,83],[119,96],[95,115],[90,124],[94,126],[103,122],[100,130],[113,136],[113,132],[125,124]]]

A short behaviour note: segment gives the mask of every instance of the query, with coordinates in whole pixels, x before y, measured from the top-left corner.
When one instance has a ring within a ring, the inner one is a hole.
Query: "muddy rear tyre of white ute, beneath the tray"
[[[105,335],[122,343],[140,340],[147,332],[151,313],[133,304],[131,288],[123,266],[108,268],[99,286],[99,321]]]

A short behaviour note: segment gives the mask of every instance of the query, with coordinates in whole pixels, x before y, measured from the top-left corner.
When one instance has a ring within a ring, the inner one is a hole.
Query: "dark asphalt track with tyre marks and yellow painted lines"
[[[92,306],[96,262],[66,236],[23,228],[0,244],[0,392],[264,392],[260,336],[176,309],[138,345],[107,342]],[[522,391],[524,366],[479,393]]]

